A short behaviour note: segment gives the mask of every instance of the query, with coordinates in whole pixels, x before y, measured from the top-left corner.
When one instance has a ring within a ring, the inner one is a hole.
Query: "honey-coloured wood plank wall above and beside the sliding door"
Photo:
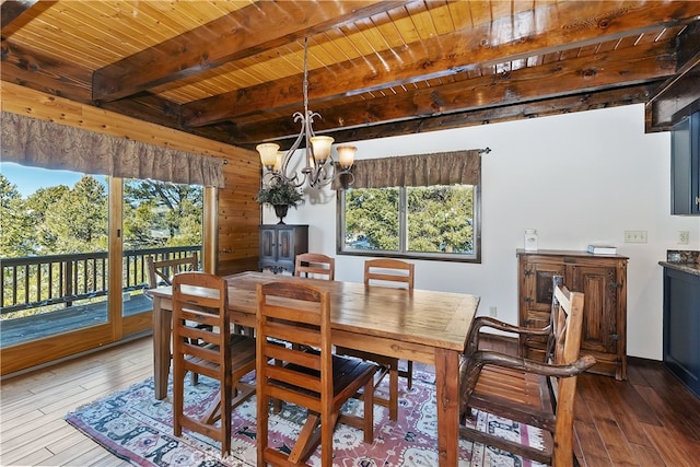
[[[257,269],[261,211],[254,197],[260,187],[261,167],[256,152],[4,81],[0,82],[0,86],[1,105],[5,112],[225,159],[225,187],[217,190],[217,196],[211,197],[215,206],[205,208],[217,212],[215,219],[212,220],[215,225],[205,227],[205,258],[215,258],[214,271],[220,275]],[[217,231],[218,237],[211,238],[213,234],[209,232]]]

